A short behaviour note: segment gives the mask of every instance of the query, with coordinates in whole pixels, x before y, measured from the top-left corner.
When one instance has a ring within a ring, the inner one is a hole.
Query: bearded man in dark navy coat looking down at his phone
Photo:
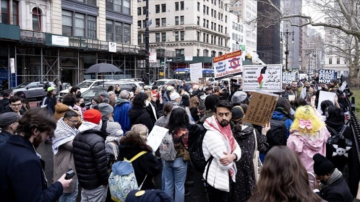
[[[48,188],[45,161],[36,152],[54,135],[56,121],[46,109],[33,108],[19,120],[16,133],[0,146],[0,196],[2,202],[55,202],[69,186],[65,174]]]

